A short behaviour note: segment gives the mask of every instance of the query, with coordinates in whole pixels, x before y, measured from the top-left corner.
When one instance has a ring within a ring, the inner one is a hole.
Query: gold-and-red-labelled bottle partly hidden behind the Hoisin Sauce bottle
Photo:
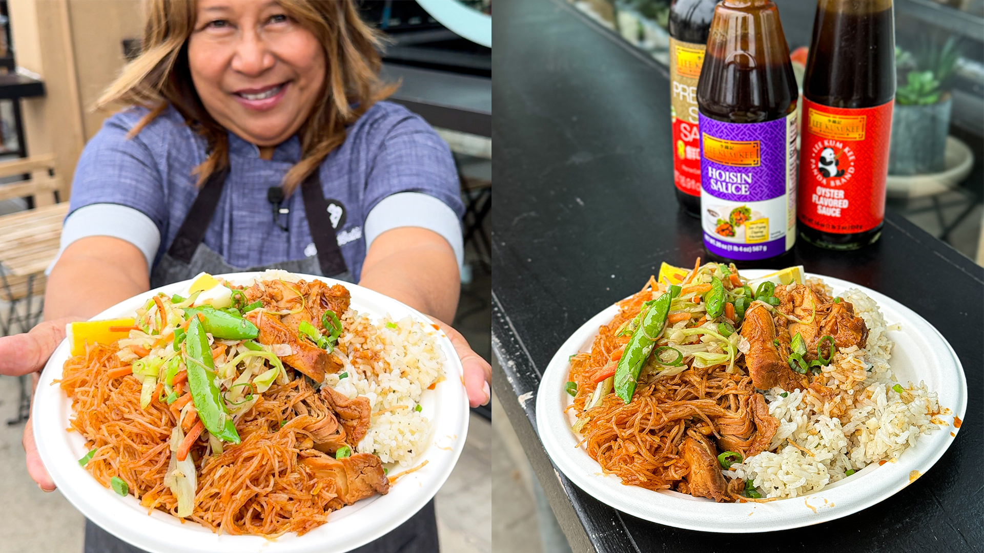
[[[704,64],[707,31],[717,0],[670,4],[670,114],[673,122],[673,184],[688,215],[701,213],[701,134],[697,80]]]

